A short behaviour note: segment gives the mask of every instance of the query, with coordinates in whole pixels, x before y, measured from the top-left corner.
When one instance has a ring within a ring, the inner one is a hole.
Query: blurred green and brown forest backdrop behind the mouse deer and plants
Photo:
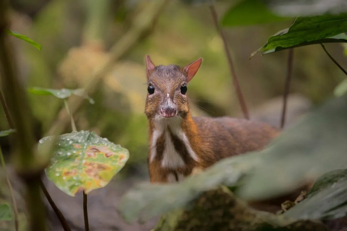
[[[110,49],[119,43],[122,36],[129,31],[141,31],[139,36],[136,33],[130,34],[130,39],[131,35],[137,36],[136,41],[122,52],[119,60],[90,95],[95,104],[85,101],[76,113],[75,121],[77,130],[95,131],[130,151],[130,159],[120,174],[107,187],[90,193],[88,206],[91,228],[100,231],[149,230],[154,226],[155,220],[144,225],[128,225],[121,220],[115,209],[117,200],[128,188],[139,181],[148,181],[147,119],[143,113],[147,88],[145,55],[149,54],[156,65],[180,66],[202,57],[202,66],[188,85],[193,115],[242,117],[225,48],[213,25],[208,7],[205,4],[179,0],[157,0],[162,7],[155,9],[155,13],[154,10],[146,11],[152,1],[10,2],[10,29],[27,35],[42,45],[42,50],[39,51],[13,38],[18,72],[26,87],[83,87],[88,76],[109,58]],[[215,7],[219,17],[236,2],[217,2]],[[155,13],[155,16],[151,13]],[[146,17],[153,17],[153,22],[147,25]],[[274,126],[280,124],[288,50],[263,57],[256,55],[251,60],[249,56],[270,35],[289,27],[292,22],[293,19],[288,19],[264,25],[222,27],[251,119],[266,121]],[[347,67],[341,44],[327,44],[326,47],[342,66]],[[287,125],[290,126],[312,105],[330,98],[335,86],[344,78],[344,74],[331,62],[320,45],[296,48]],[[35,117],[36,138],[39,139],[51,128],[64,103],[50,96],[28,97]],[[2,110],[0,118],[0,130],[8,129]],[[70,132],[70,128],[66,132]],[[1,139],[1,147],[6,156],[8,139]],[[22,186],[16,181],[13,171],[11,175],[20,197]],[[4,185],[4,179],[1,181],[1,185]],[[61,193],[52,183],[46,183],[53,200],[72,224],[72,228],[83,230],[82,198],[70,197]],[[8,196],[7,189],[1,186],[0,200],[8,200]],[[25,220],[23,204],[19,202],[22,218]],[[50,207],[47,206],[47,209],[50,210]],[[54,213],[49,212],[51,230],[62,230]],[[12,229],[11,225],[6,227],[5,223],[3,227],[4,230]]]

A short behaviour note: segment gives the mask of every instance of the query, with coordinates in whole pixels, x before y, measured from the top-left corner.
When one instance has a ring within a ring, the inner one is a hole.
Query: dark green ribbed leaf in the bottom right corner
[[[336,219],[347,215],[347,169],[321,176],[307,198],[285,213],[296,219]]]

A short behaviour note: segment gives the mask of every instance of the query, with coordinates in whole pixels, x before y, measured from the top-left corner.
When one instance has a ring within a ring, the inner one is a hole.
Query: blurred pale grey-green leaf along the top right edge
[[[264,0],[264,3],[282,16],[315,16],[347,12],[346,0]]]

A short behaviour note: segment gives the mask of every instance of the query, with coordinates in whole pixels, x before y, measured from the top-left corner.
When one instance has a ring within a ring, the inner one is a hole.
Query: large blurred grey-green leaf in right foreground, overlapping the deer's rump
[[[260,152],[262,165],[244,179],[240,196],[270,198],[313,182],[324,173],[347,168],[347,95],[332,99]]]

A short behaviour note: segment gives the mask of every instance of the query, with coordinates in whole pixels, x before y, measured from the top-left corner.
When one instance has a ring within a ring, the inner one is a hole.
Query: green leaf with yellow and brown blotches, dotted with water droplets
[[[51,145],[54,137],[39,141],[40,148]],[[94,132],[79,131],[60,135],[54,156],[45,172],[60,190],[70,196],[104,187],[129,158],[129,151]]]

